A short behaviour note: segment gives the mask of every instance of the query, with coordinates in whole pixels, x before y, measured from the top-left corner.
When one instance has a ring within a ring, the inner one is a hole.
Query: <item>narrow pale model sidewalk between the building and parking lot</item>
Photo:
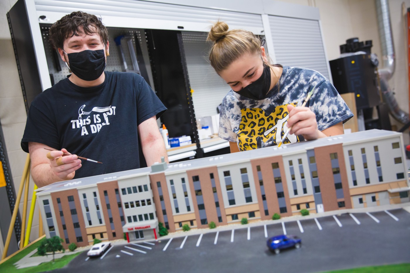
[[[345,214],[345,213],[380,212],[384,210],[392,210],[392,209],[400,209],[400,208],[403,208],[405,211],[410,213],[410,203],[408,202],[403,203],[403,204],[382,205],[382,206],[364,207],[364,208],[357,208],[357,209],[341,209],[341,210],[331,211],[331,212],[322,212],[320,214],[310,214],[307,216],[295,215],[295,216],[288,216],[285,218],[281,218],[279,220],[257,221],[257,222],[248,223],[246,225],[241,225],[241,223],[238,222],[237,224],[224,225],[224,226],[216,227],[214,229],[209,229],[209,228],[191,229],[187,232],[180,230],[180,231],[168,234],[166,236],[162,236],[158,238],[157,241],[176,238],[176,237],[185,237],[187,235],[191,236],[195,234],[218,232],[218,231],[224,231],[224,230],[236,230],[236,229],[241,229],[241,228],[246,228],[246,227],[257,227],[261,225],[271,225],[271,224],[282,223],[282,222],[286,223],[286,222],[293,222],[297,220],[321,218],[324,216],[333,216],[333,215],[339,215],[339,214]],[[140,240],[138,242],[142,242],[142,241],[144,240]],[[152,240],[145,240],[145,241],[152,241]],[[111,244],[112,245],[125,245],[125,244],[128,244],[128,242],[125,240],[116,240],[116,241],[111,241]],[[61,258],[64,255],[71,255],[77,252],[87,251],[88,249],[89,247],[84,247],[84,248],[77,249],[75,251],[67,250],[65,253],[57,253],[55,254],[55,259]],[[15,263],[16,268],[19,269],[19,268],[25,268],[25,267],[31,267],[31,266],[38,266],[41,263],[50,262],[52,260],[52,255],[31,257],[36,252],[37,252],[37,249],[33,250],[26,257],[16,262]]]

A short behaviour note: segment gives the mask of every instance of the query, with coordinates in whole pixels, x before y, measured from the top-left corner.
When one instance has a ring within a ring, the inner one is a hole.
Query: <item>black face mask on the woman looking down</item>
[[[264,65],[262,75],[255,82],[248,84],[239,91],[236,91],[241,96],[251,98],[253,100],[262,100],[267,97],[269,88],[271,87],[271,68]]]

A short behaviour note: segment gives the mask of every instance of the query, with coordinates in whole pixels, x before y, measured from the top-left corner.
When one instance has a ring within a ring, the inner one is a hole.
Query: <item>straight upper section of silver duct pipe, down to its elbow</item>
[[[376,0],[375,2],[383,59],[383,68],[379,69],[379,75],[383,76],[386,80],[390,80],[396,68],[396,55],[394,54],[389,2],[387,0]]]

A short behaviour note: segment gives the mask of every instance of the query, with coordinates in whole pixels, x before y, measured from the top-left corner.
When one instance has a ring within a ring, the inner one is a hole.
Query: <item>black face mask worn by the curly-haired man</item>
[[[105,47],[104,47],[105,48]],[[63,50],[64,51],[64,50]],[[64,52],[66,53],[66,52]],[[66,53],[67,54],[67,53]],[[97,80],[105,69],[104,49],[68,53],[70,70],[84,81]]]

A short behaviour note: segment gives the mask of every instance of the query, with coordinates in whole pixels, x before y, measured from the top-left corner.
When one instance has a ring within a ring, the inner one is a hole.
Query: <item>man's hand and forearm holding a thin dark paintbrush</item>
[[[37,187],[73,179],[75,171],[82,166],[81,159],[78,159],[77,155],[71,155],[66,149],[54,150],[37,142],[29,142],[28,149],[31,159],[31,176]]]

